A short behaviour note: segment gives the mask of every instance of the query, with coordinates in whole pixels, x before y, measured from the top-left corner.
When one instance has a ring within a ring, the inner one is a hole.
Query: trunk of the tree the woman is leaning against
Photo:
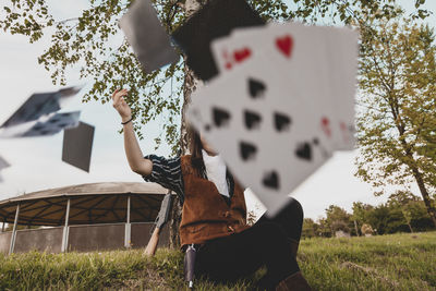
[[[183,4],[184,13],[187,17],[194,14],[199,9],[199,1],[186,0]],[[196,88],[197,81],[194,77],[194,73],[186,65],[186,57],[184,56],[184,82],[183,82],[183,106],[181,112],[181,125],[180,125],[180,154],[189,154],[189,136],[186,132],[186,119],[185,113],[189,104],[191,102],[191,94]],[[177,248],[180,246],[179,226],[182,218],[182,207],[180,206],[179,198],[173,199],[171,208],[171,217],[169,220],[170,225],[170,247]]]

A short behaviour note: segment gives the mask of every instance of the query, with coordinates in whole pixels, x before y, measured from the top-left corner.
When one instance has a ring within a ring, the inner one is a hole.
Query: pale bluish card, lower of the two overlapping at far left
[[[77,126],[80,116],[81,111],[56,113],[45,122],[37,122],[31,130],[19,136],[29,137],[57,134],[64,129]]]

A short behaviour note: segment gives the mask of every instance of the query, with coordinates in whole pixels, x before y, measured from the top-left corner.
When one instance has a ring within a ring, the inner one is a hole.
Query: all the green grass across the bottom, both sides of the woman
[[[298,256],[315,290],[436,290],[436,232],[307,239]],[[262,276],[234,284],[196,282],[196,290],[251,290]],[[181,290],[183,255],[158,250],[0,255],[0,290]]]

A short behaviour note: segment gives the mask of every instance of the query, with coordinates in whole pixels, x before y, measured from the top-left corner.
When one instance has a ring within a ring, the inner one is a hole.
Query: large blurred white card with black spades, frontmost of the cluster
[[[331,150],[316,111],[268,61],[215,78],[193,95],[187,118],[275,215]]]

